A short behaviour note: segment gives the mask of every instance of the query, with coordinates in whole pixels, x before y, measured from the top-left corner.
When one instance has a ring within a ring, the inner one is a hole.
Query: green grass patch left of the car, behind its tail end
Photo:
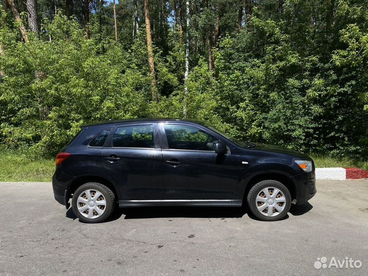
[[[26,151],[0,148],[0,181],[51,181],[55,159],[34,159]]]

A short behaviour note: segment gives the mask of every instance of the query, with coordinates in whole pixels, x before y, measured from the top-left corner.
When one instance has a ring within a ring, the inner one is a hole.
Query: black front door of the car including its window
[[[236,156],[217,154],[220,140],[192,125],[160,124],[163,137],[164,200],[235,199],[238,181]]]

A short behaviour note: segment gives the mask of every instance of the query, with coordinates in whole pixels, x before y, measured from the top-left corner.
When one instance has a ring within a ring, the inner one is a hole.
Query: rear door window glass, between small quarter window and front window
[[[121,148],[154,148],[153,125],[118,127],[112,146]]]

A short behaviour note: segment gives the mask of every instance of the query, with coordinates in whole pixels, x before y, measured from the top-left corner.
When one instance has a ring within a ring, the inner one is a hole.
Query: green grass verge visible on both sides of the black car
[[[317,168],[358,167],[368,170],[368,160],[311,155]],[[30,157],[27,150],[0,147],[0,181],[51,181],[55,171],[54,158]]]

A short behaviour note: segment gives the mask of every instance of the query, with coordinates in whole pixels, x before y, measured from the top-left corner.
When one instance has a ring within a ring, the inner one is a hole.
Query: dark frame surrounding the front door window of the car
[[[176,151],[194,151],[194,152],[208,152],[208,153],[215,153],[215,151],[209,151],[209,150],[187,150],[187,149],[170,149],[169,148],[169,142],[167,141],[166,131],[165,131],[165,125],[181,125],[181,126],[190,126],[194,128],[198,128],[202,130],[204,133],[216,137],[218,140],[223,141],[226,143],[227,147],[227,154],[231,154],[231,148],[228,146],[227,139],[225,137],[221,136],[220,134],[214,132],[214,131],[208,131],[205,127],[197,124],[191,124],[191,123],[182,123],[182,122],[160,122],[158,123],[158,128],[160,131],[160,141],[162,141],[162,150],[176,150]],[[165,148],[164,148],[165,147]]]

